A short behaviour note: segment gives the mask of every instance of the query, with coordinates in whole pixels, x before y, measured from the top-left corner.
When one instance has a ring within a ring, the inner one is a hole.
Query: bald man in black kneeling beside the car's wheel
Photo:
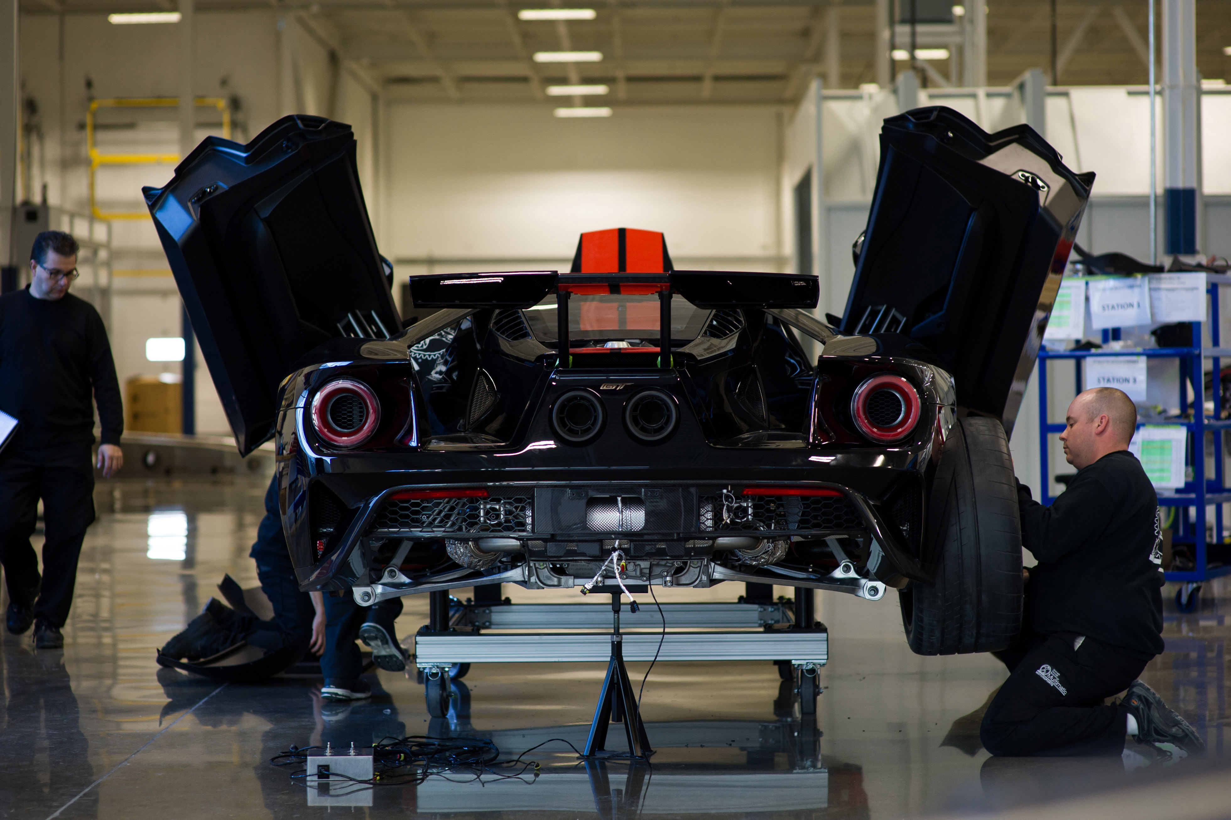
[[[1205,750],[1136,680],[1163,650],[1158,498],[1129,452],[1136,424],[1123,391],[1087,390],[1069,406],[1060,434],[1077,467],[1069,488],[1043,507],[1018,482],[1022,542],[1039,563],[1025,570],[1022,636],[995,653],[1009,677],[980,731],[993,755],[1121,755],[1129,736]]]

